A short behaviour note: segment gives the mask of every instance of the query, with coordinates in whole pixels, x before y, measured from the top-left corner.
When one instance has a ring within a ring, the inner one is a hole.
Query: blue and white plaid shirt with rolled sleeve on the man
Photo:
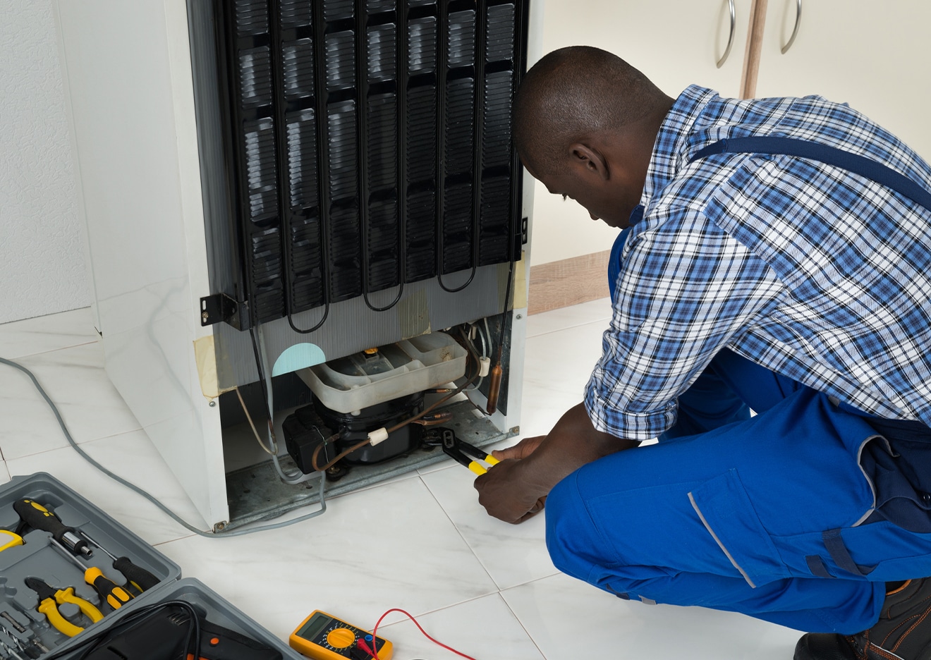
[[[660,128],[643,218],[622,252],[586,387],[592,423],[654,438],[728,347],[862,411],[931,425],[931,211],[793,156],[689,163],[712,142],[750,135],[864,155],[931,189],[920,156],[846,105],[687,88]]]

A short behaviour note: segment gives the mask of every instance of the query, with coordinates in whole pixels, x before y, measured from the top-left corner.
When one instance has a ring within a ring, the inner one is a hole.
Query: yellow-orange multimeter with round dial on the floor
[[[394,649],[391,642],[382,638],[372,638],[371,633],[332,614],[315,610],[288,638],[290,647],[314,660],[369,660],[370,653],[358,645],[359,640],[371,649],[377,644],[375,652],[380,660],[389,660]]]

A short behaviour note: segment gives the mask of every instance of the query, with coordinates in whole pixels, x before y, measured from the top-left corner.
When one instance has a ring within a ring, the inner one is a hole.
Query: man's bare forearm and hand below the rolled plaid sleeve
[[[560,479],[602,456],[640,444],[595,430],[582,403],[566,411],[534,447],[536,441],[529,438],[515,451],[500,452],[505,460],[475,480],[479,504],[489,515],[523,522],[543,508],[546,495]]]

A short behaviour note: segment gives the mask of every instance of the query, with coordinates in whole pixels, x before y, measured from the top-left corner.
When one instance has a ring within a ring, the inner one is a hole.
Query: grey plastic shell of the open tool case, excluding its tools
[[[86,532],[116,557],[128,557],[137,566],[154,574],[159,584],[142,593],[131,590],[135,598],[115,610],[101,602],[94,588],[85,583],[83,572],[74,562],[52,546],[49,532],[23,530],[22,546],[7,546],[0,551],[0,658],[19,656],[28,660],[55,653],[56,659],[77,660],[87,650],[82,638],[87,640],[101,630],[120,630],[124,627],[121,622],[133,618],[133,614],[142,608],[175,599],[193,605],[211,626],[221,626],[258,641],[280,653],[285,660],[303,658],[208,586],[193,578],[181,579],[180,566],[51,475],[36,473],[29,477],[16,477],[0,486],[0,528],[16,532],[20,517],[13,504],[23,498],[54,511],[65,526]],[[92,544],[90,547],[93,556],[89,559],[81,557],[81,562],[88,567],[96,566],[117,585],[124,586],[126,578],[113,568],[113,559],[99,547]],[[84,627],[76,636],[66,636],[51,626],[44,613],[36,611],[39,597],[26,586],[27,577],[38,577],[56,590],[74,587],[74,594],[95,605],[103,618],[92,624],[73,603],[60,604],[59,612],[66,620]],[[42,651],[41,647],[48,651]],[[68,649],[73,651],[69,653]],[[201,654],[207,660],[213,660],[208,653]],[[227,660],[228,657],[236,660],[236,656],[220,653],[214,657],[217,660]]]

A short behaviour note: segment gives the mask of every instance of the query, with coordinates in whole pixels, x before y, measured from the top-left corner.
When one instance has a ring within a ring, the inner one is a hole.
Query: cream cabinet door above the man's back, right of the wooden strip
[[[848,102],[931,160],[926,0],[768,0],[757,97],[818,94]]]

